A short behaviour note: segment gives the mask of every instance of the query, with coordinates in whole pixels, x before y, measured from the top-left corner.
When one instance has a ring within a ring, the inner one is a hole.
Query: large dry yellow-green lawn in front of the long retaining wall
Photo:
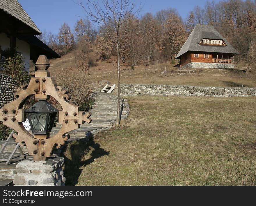
[[[69,185],[255,185],[256,98],[129,97],[118,128],[69,144]]]

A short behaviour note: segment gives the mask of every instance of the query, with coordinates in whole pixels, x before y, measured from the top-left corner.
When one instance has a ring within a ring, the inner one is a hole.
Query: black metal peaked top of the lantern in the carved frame
[[[25,111],[26,113],[55,113],[58,112],[54,106],[45,100],[39,100]]]

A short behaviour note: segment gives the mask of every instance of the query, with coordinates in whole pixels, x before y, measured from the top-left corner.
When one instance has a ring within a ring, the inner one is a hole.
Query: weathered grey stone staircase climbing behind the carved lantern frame
[[[94,105],[90,110],[92,115],[90,118],[92,122],[90,124],[84,123],[79,129],[73,130],[67,134],[70,135],[70,139],[86,138],[90,135],[94,135],[99,131],[103,131],[113,127],[116,121],[116,109],[117,109],[117,95],[113,93],[95,93],[93,95]],[[124,120],[129,115],[130,106],[126,99],[121,99],[121,120]],[[61,124],[57,124],[52,129],[52,134],[55,134],[61,128]]]

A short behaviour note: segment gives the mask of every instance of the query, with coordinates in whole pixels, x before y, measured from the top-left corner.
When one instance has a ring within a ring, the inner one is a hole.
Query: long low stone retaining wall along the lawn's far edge
[[[121,95],[251,97],[256,88],[121,84]]]

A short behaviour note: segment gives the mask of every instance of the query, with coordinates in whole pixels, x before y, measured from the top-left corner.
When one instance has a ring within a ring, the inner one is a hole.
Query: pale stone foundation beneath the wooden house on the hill
[[[212,68],[212,69],[227,69],[234,68],[234,64],[221,64],[221,63],[204,63],[204,62],[189,62],[181,68]]]

